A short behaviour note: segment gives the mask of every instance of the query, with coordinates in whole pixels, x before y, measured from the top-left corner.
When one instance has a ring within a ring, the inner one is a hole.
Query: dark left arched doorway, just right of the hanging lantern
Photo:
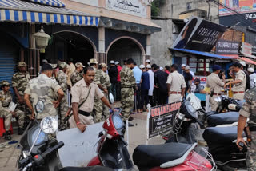
[[[73,58],[74,63],[82,62],[87,65],[90,58],[95,58],[96,46],[89,38],[82,34],[70,31],[54,33],[50,46],[46,47],[46,53],[41,54],[42,59],[47,59],[52,63],[58,60],[65,61]]]

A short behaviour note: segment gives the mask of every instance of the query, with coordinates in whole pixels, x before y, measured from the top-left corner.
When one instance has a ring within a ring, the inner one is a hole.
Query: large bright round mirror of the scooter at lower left
[[[58,121],[54,117],[45,117],[40,123],[44,133],[55,133],[58,129]]]

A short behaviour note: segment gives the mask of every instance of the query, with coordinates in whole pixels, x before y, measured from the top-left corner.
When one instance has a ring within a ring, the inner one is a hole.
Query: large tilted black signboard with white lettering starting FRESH
[[[226,26],[191,17],[176,38],[172,48],[210,52],[225,30]]]

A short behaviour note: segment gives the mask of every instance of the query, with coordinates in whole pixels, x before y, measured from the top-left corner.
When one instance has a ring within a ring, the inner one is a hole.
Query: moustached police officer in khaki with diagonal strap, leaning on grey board
[[[83,79],[71,88],[73,116],[70,117],[70,128],[78,128],[81,132],[86,125],[94,124],[90,113],[94,109],[94,97],[98,97],[110,109],[113,109],[98,85],[94,83],[95,70],[92,67],[84,69]],[[80,107],[78,107],[81,105]]]

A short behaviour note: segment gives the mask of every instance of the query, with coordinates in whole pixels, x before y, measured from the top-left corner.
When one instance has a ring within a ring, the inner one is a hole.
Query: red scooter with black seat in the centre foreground
[[[133,170],[134,165],[124,140],[126,125],[119,112],[114,112],[103,124],[99,133],[97,153],[87,166],[104,165],[110,168]],[[194,151],[193,145],[168,143],[163,145],[138,145],[133,161],[139,170],[214,170],[215,164]]]

